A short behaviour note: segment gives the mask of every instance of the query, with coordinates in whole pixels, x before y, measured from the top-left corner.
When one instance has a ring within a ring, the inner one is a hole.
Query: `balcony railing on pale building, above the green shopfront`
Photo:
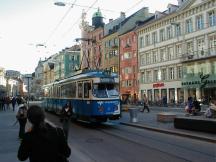
[[[216,56],[216,48],[208,50],[193,51],[182,55],[182,61],[193,61]]]

